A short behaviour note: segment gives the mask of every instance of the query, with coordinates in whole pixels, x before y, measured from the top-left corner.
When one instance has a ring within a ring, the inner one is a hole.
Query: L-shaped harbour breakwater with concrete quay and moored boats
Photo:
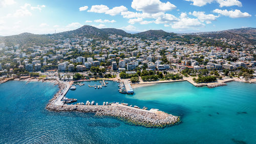
[[[100,83],[102,83],[102,85],[105,85],[104,81]],[[111,83],[118,84],[116,82]],[[121,83],[118,84],[118,86],[121,85]],[[63,89],[60,89],[60,91],[57,94],[55,94],[56,96],[48,103],[47,109],[54,111],[94,112],[96,116],[117,117],[118,119],[122,119],[122,121],[125,121],[127,123],[153,128],[164,128],[168,126],[173,126],[180,122],[180,117],[178,116],[167,114],[163,111],[159,111],[158,109],[154,108],[147,110],[145,106],[142,109],[136,105],[134,105],[133,107],[128,106],[128,103],[120,104],[118,102],[104,101],[102,105],[98,105],[98,102],[95,105],[95,100],[92,100],[91,102],[87,100],[85,104],[83,102],[78,101],[76,104],[70,104],[73,101],[76,102],[75,100],[79,100],[68,99],[67,96],[65,96],[67,95],[66,93],[69,91],[68,89],[70,89],[71,87],[74,87],[72,83],[68,86],[66,85]],[[100,88],[99,85],[97,87]],[[76,89],[76,91],[77,90],[82,89],[80,89],[79,87],[78,89]],[[70,98],[70,96],[68,97]]]

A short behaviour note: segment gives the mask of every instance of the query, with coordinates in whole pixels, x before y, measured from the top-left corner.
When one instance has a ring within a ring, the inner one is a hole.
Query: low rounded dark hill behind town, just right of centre
[[[167,37],[172,36],[174,33],[167,33],[163,30],[148,30],[145,32],[134,34],[134,36],[142,37],[142,38],[159,38],[159,37]]]

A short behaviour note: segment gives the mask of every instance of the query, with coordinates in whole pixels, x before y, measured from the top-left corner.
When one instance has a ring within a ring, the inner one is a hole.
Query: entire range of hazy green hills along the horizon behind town
[[[48,43],[53,43],[54,40],[65,39],[65,38],[78,38],[78,37],[88,37],[95,39],[108,39],[109,35],[120,35],[123,37],[139,37],[139,38],[160,38],[169,37],[172,40],[182,39],[175,33],[167,33],[163,30],[148,30],[145,32],[140,32],[137,34],[126,33],[123,30],[106,28],[98,29],[92,26],[82,26],[79,29],[61,32],[57,34],[48,35],[35,35],[31,33],[22,33],[13,36],[3,36],[0,37],[0,42],[5,42],[8,46],[14,46],[15,44],[20,44],[21,46],[33,46],[33,45],[45,45]],[[190,35],[189,37],[214,37],[214,38],[227,38],[233,39],[235,41],[242,41],[246,43],[256,44],[256,29],[255,28],[242,28],[242,29],[232,29],[226,31],[218,32],[206,32],[206,33],[193,33],[193,34],[181,34]],[[195,36],[196,35],[196,36]],[[183,37],[184,40],[184,37]],[[186,41],[189,42],[189,41]]]

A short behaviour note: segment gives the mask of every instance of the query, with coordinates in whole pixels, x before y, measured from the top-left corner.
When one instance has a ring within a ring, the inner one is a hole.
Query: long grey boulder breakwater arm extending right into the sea
[[[79,111],[93,112],[95,116],[111,116],[129,124],[151,127],[164,128],[173,126],[180,122],[179,116],[167,114],[158,110],[142,110],[129,106],[112,105],[112,106],[74,106],[74,105],[53,105],[47,106],[48,110],[53,111]]]

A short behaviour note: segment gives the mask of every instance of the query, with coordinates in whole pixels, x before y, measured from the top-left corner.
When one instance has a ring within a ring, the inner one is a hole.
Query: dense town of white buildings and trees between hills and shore
[[[185,36],[181,36],[185,37]],[[41,77],[73,81],[121,78],[131,82],[179,80],[193,77],[196,83],[225,78],[252,79],[255,45],[225,38],[188,41],[109,35],[108,40],[79,37],[33,46],[0,43],[0,75]]]

